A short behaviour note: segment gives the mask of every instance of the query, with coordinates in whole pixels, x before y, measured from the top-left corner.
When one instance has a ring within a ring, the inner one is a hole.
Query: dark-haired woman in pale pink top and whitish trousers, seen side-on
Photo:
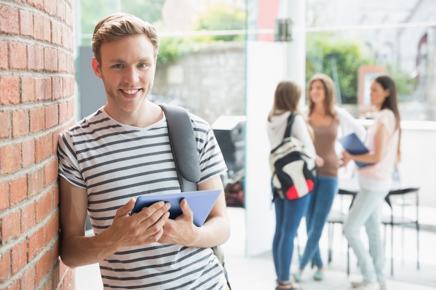
[[[374,123],[368,128],[365,145],[369,152],[352,155],[343,152],[343,161],[371,163],[359,168],[360,190],[350,208],[343,232],[355,252],[364,276],[361,282],[352,282],[361,290],[386,289],[384,283],[384,250],[380,225],[380,208],[391,188],[391,177],[400,159],[400,113],[396,86],[389,76],[378,76],[371,83],[371,104],[377,108]],[[371,251],[361,241],[360,229],[365,226]]]

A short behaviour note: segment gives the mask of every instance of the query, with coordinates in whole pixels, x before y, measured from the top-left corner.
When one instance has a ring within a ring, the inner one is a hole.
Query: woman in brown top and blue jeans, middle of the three
[[[323,264],[318,242],[322,234],[334,197],[338,192],[338,168],[340,150],[336,150],[336,139],[355,132],[363,139],[366,130],[343,108],[336,106],[334,82],[326,74],[315,74],[307,86],[308,108],[306,115],[315,135],[316,153],[323,163],[317,168],[317,182],[311,193],[311,202],[306,211],[307,241],[299,261],[299,271],[293,273],[299,282],[309,261],[317,267],[313,278],[322,280]]]

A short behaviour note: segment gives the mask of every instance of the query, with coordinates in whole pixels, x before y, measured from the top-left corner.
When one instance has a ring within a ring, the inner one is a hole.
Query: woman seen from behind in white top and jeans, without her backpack
[[[297,113],[291,127],[292,136],[301,140],[309,155],[315,158],[316,152],[309,132],[310,127],[297,111],[300,97],[301,90],[292,81],[281,81],[277,85],[274,93],[274,104],[268,115],[267,133],[271,149],[277,147],[283,140],[289,115]],[[294,238],[310,198],[309,194],[297,200],[279,197],[273,199],[276,229],[272,243],[272,255],[277,273],[276,289],[298,289],[297,285],[290,283],[290,261],[294,251]]]

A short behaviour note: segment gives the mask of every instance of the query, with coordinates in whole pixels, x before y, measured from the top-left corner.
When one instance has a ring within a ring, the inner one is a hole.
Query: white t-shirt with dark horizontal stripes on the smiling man
[[[209,124],[190,114],[201,181],[226,170]],[[103,108],[59,138],[59,175],[88,192],[95,234],[109,227],[132,197],[180,192],[166,118],[128,126]],[[225,289],[223,268],[210,248],[151,243],[124,248],[100,261],[104,289]]]

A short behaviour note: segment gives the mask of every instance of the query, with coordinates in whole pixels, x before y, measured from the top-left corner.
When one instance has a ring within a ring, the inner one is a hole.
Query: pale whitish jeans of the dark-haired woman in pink
[[[348,244],[355,252],[364,281],[369,283],[384,281],[384,249],[380,234],[382,224],[380,211],[387,194],[386,191],[369,191],[361,188],[343,226],[343,232]],[[363,225],[368,234],[369,252],[360,236],[360,229]]]

